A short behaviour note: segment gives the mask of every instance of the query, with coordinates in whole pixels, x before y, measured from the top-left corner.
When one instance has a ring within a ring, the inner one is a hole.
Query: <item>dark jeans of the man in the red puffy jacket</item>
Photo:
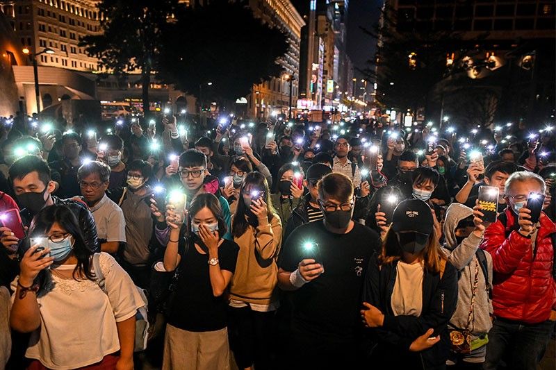
[[[536,370],[553,328],[554,321],[527,324],[497,319],[489,332],[483,370],[496,370],[502,358],[507,369]]]

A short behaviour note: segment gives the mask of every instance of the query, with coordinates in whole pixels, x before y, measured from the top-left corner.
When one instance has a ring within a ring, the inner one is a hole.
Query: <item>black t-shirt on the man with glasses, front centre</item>
[[[368,262],[379,249],[374,230],[354,224],[347,234],[329,232],[322,221],[296,228],[279,256],[278,266],[295,271],[308,241],[318,244],[325,272],[293,292],[293,328],[334,342],[351,342],[361,327],[361,288]]]

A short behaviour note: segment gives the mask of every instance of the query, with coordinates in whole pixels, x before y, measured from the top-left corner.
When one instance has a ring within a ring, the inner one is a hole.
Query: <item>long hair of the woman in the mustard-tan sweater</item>
[[[259,174],[259,172],[250,172],[247,176],[245,176],[245,179],[240,187],[238,208],[236,210],[236,215],[234,215],[234,222],[231,225],[231,234],[234,235],[234,237],[240,237],[243,235],[249,225],[254,228],[259,226],[259,220],[252,215],[250,209],[243,201],[243,192],[245,192],[246,187],[252,187],[256,190],[264,192],[263,197],[266,203],[266,215],[269,221],[276,213],[274,207],[272,206],[272,201],[270,200],[270,190],[265,176]]]

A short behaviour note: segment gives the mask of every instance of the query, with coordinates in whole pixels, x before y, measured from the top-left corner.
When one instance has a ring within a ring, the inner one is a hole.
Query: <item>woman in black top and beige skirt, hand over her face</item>
[[[213,194],[199,194],[191,202],[190,230],[177,216],[171,207],[167,210],[171,232],[164,268],[179,272],[167,318],[163,369],[229,369],[224,292],[239,247],[221,236],[226,223]]]

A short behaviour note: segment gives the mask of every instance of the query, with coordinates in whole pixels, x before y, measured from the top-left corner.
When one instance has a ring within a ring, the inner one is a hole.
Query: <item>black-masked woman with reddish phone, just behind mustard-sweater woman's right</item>
[[[276,194],[272,194],[270,199],[282,225],[286,225],[290,218],[291,212],[300,205],[303,197],[303,185],[298,187],[295,185],[295,175],[303,176],[303,170],[299,166],[286,163],[278,170],[279,183],[277,184]],[[284,228],[285,229],[285,228]]]

